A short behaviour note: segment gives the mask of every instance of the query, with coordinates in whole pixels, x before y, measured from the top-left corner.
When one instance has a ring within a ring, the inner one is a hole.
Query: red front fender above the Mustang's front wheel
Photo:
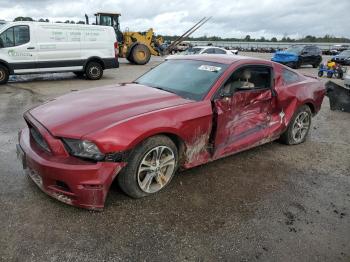
[[[83,139],[93,141],[103,153],[128,151],[148,137],[163,133],[176,135],[189,146],[197,137],[209,134],[211,127],[211,103],[200,101],[125,119]]]

